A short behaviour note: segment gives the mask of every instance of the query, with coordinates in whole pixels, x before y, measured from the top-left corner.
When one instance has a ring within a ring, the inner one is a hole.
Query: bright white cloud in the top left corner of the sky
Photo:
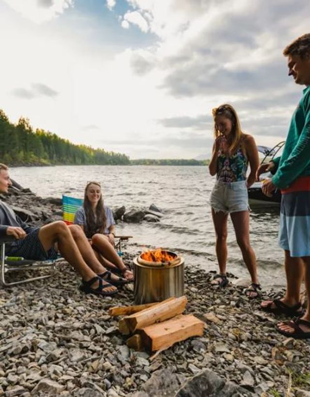
[[[13,10],[32,22],[42,23],[59,16],[74,0],[4,0]]]

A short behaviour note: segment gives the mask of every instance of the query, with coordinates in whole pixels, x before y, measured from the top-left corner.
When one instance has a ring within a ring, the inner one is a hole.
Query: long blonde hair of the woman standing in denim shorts
[[[215,120],[216,116],[225,116],[232,122],[232,131],[231,134],[233,136],[233,141],[229,147],[229,150],[233,152],[237,149],[240,138],[242,136],[241,125],[239,118],[237,116],[236,111],[233,109],[232,105],[224,103],[223,105],[218,106],[217,108],[212,109],[212,116]],[[214,123],[214,137],[217,138],[220,135],[220,132],[217,130],[216,124]]]

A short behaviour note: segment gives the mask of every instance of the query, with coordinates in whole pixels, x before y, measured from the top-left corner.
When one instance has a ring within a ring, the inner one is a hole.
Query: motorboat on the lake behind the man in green
[[[260,153],[264,154],[263,163],[269,163],[273,158],[279,155],[279,151],[283,148],[285,141],[279,142],[273,148],[267,148],[266,146],[258,146],[257,149]],[[279,205],[281,202],[281,192],[279,189],[276,189],[272,195],[272,197],[267,197],[263,194],[262,186],[263,182],[272,178],[271,172],[266,172],[260,175],[260,181],[252,184],[251,187],[248,188],[248,200],[250,204],[255,205]]]

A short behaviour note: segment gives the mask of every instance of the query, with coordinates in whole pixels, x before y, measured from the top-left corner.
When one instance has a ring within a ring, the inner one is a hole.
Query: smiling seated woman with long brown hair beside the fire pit
[[[115,221],[111,209],[103,203],[100,182],[87,182],[83,206],[78,209],[74,223],[86,234],[101,264],[124,277],[120,284],[133,280],[133,273],[114,249]],[[111,273],[102,276],[109,281]]]

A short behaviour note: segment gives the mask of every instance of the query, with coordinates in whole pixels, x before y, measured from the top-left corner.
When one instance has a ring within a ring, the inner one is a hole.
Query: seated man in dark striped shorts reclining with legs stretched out
[[[0,193],[8,193],[11,185],[8,167],[0,164]],[[0,201],[0,237],[4,236],[13,236],[16,239],[6,245],[7,255],[30,260],[54,259],[57,256],[57,245],[61,255],[82,277],[80,289],[85,293],[113,295],[117,292],[116,286],[126,282],[125,279],[111,274],[98,261],[78,225],[67,226],[58,221],[41,228],[33,228]]]

